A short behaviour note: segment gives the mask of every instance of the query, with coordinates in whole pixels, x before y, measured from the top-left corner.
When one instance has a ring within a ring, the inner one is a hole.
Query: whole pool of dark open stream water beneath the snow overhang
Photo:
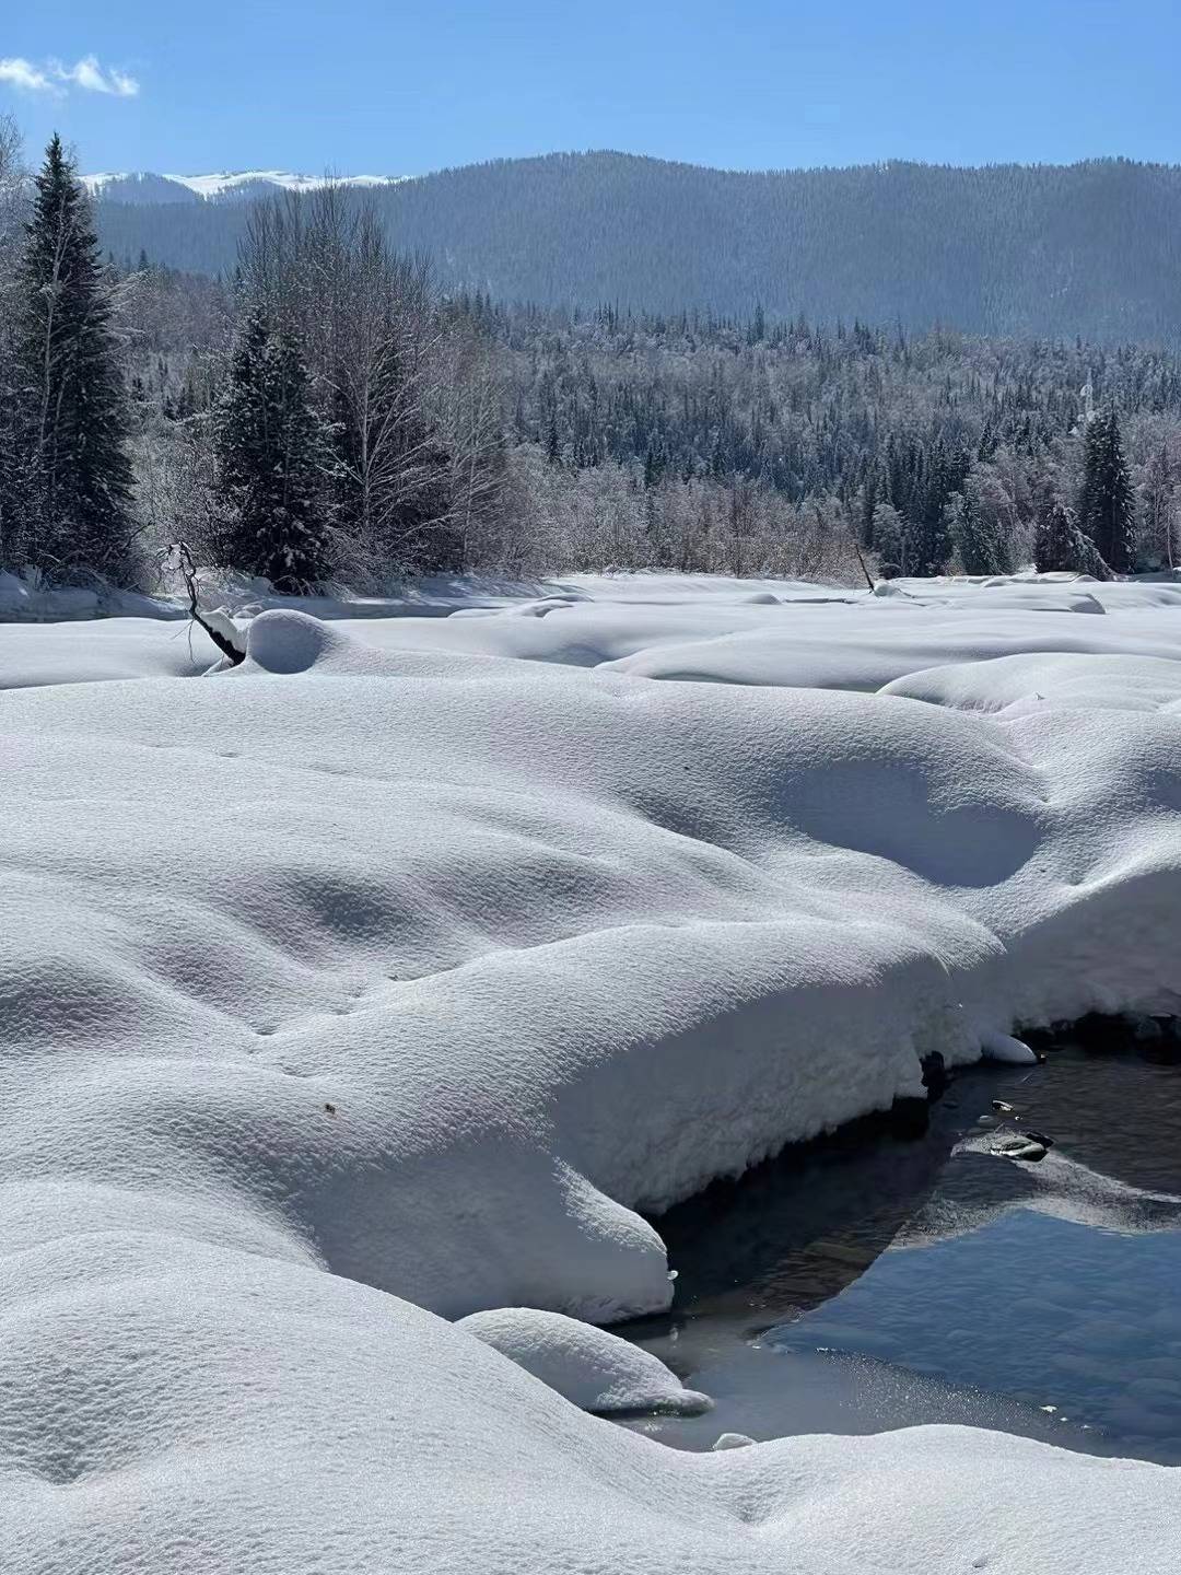
[[[1000,1151],[1025,1131],[1041,1162]],[[1181,1465],[1175,1049],[973,1069],[921,1139],[789,1153],[658,1224],[672,1315],[620,1332],[716,1408],[627,1425],[705,1449],[964,1422]]]

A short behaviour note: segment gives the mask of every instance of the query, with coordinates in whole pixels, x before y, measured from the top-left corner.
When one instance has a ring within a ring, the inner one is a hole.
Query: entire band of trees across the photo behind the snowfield
[[[1074,340],[442,291],[328,187],[225,280],[101,260],[5,143],[0,567],[304,591],[408,573],[1172,569],[1181,365]],[[24,206],[22,206],[24,205]]]

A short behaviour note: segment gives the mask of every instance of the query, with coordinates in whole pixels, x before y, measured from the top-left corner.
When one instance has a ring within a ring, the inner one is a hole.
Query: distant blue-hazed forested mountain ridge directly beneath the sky
[[[587,153],[444,170],[364,200],[446,288],[502,301],[1181,340],[1175,165],[734,173]],[[233,268],[247,222],[228,202],[99,203],[117,258],[203,272]]]

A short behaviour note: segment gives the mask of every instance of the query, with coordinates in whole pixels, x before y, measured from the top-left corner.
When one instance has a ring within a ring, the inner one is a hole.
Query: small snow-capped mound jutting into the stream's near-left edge
[[[698,1416],[712,1405],[709,1395],[687,1389],[658,1356],[561,1312],[498,1307],[460,1318],[457,1328],[512,1358],[583,1411]]]

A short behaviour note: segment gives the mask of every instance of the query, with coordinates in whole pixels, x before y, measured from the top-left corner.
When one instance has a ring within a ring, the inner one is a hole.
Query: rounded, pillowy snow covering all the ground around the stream
[[[660,1309],[642,1213],[1175,1011],[1181,586],[537,589],[0,627],[0,1566],[1172,1572],[1172,1471],[688,1457],[446,1320]]]

